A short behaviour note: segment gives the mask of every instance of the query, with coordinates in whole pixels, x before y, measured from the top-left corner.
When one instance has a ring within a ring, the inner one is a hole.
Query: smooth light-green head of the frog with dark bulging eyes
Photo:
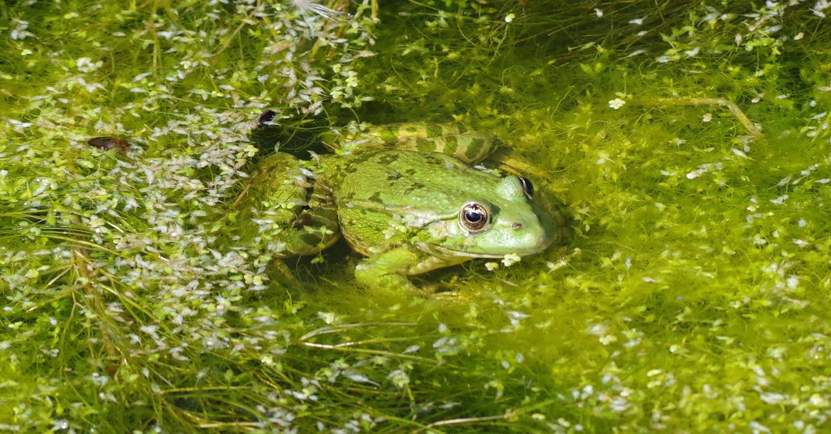
[[[466,197],[457,207],[455,216],[428,225],[425,250],[436,256],[526,256],[545,250],[557,229],[534,200],[534,185],[527,178],[502,178],[491,191]]]

